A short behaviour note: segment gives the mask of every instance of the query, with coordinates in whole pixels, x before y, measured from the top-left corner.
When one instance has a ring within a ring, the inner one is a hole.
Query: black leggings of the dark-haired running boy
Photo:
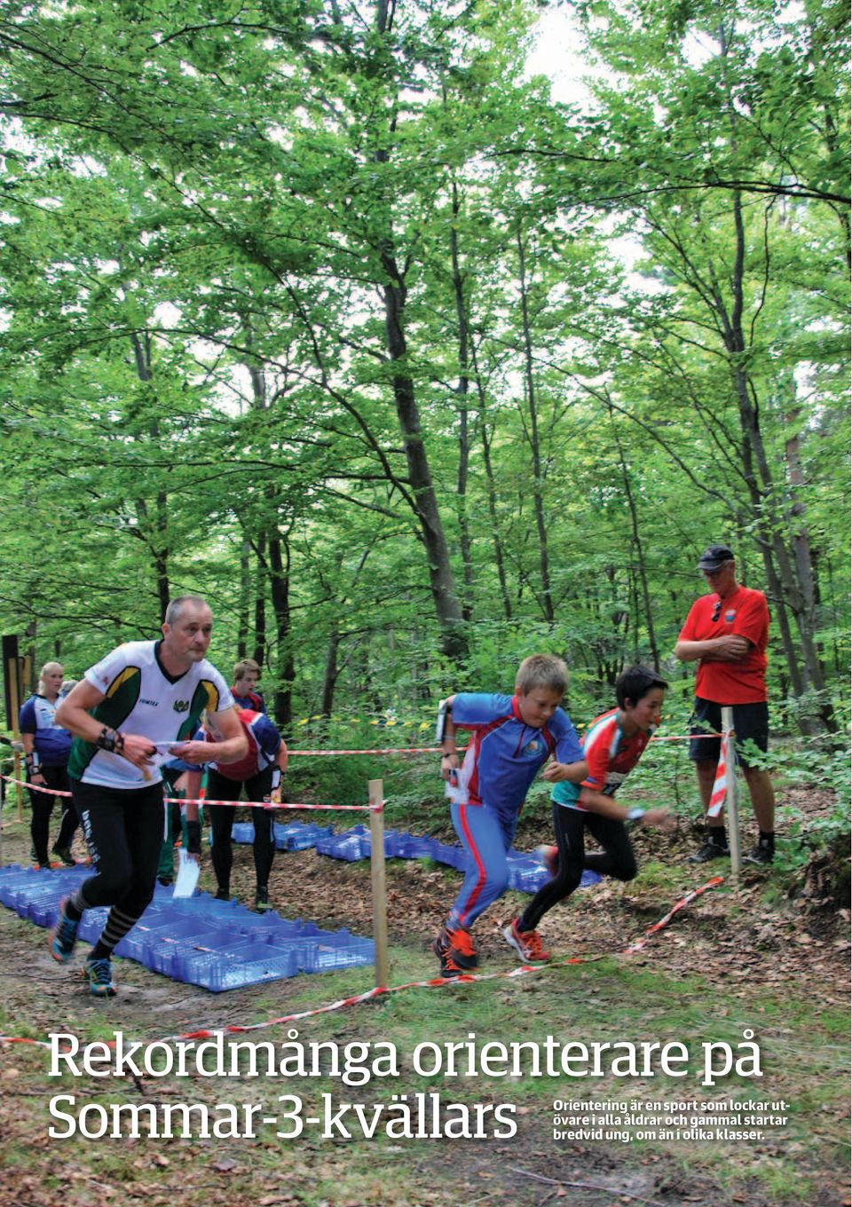
[[[617,880],[632,880],[636,875],[636,856],[624,822],[554,801],[553,828],[559,847],[559,868],[518,919],[519,931],[535,931],[547,911],[577,888],[585,868]],[[587,829],[603,847],[602,852],[585,853]]]

